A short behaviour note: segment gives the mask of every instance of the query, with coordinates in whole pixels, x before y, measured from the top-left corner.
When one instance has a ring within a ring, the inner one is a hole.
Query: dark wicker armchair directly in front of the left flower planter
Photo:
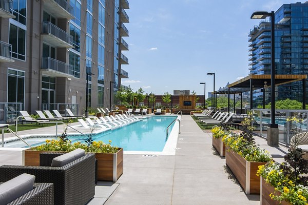
[[[34,175],[35,182],[53,183],[54,204],[84,205],[94,197],[94,154],[86,154],[63,167],[4,165],[0,167],[0,181],[10,180],[22,173]]]

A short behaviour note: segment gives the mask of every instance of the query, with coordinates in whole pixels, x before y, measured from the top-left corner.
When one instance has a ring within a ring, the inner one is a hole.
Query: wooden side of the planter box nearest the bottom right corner
[[[290,205],[290,203],[286,201],[281,201],[281,203],[277,200],[271,199],[269,194],[274,193],[274,187],[265,182],[264,178],[260,177],[261,180],[261,194],[260,194],[260,204],[261,205]],[[277,192],[279,193],[279,192]]]

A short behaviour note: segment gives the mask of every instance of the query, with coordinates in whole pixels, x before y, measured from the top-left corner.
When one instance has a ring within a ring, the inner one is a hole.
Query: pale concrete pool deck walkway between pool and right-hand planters
[[[283,160],[286,148],[255,139]],[[260,204],[260,195],[244,193],[211,143],[211,133],[183,115],[176,155],[124,154],[124,174],[115,183],[99,182],[88,204]]]

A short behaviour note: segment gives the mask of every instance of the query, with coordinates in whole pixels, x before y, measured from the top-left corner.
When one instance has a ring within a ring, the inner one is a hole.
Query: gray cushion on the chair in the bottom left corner
[[[0,185],[0,204],[7,204],[33,189],[35,176],[21,174]]]

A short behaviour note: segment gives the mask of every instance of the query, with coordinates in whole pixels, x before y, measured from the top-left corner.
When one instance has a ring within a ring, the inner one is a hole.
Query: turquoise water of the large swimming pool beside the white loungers
[[[166,144],[166,128],[176,118],[177,116],[151,116],[114,130],[94,134],[92,138],[94,141],[105,143],[109,143],[108,141],[111,140],[111,145],[121,147],[124,151],[161,152]],[[173,127],[174,124],[169,128],[170,134]],[[95,131],[99,131],[99,129]],[[31,146],[38,146],[43,144],[46,139],[51,138],[54,137],[27,137],[25,140]],[[72,136],[69,139],[72,142],[86,140],[82,136]],[[24,145],[23,142],[16,141],[5,147],[24,147]]]

